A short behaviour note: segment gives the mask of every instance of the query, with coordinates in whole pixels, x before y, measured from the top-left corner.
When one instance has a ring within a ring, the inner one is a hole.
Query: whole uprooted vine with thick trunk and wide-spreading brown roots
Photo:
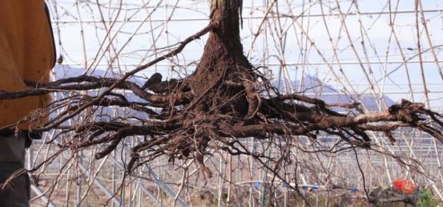
[[[273,136],[287,138],[286,144],[291,147],[292,139],[297,136],[315,139],[316,134],[322,132],[340,136],[352,147],[368,148],[371,142],[367,131],[385,132],[391,141],[395,141],[392,131],[399,127],[414,127],[443,143],[443,116],[425,109],[422,103],[403,100],[377,113],[339,114],[330,108],[352,109],[359,104],[327,104],[323,100],[298,93],[280,94],[253,69],[243,54],[239,38],[241,10],[242,0],[213,0],[210,25],[184,39],[173,51],[125,73],[123,78],[82,75],[48,84],[36,84],[36,89],[0,92],[0,100],[40,96],[52,91],[105,88],[99,96],[78,96],[76,94],[79,93],[75,93],[72,100],[55,102],[48,107],[48,111],[62,106],[67,110],[36,130],[45,132],[59,128],[63,129],[63,133],[72,133],[73,136],[69,137],[74,137],[73,141],[67,142],[64,149],[77,150],[78,147],[107,144],[96,154],[96,159],[111,153],[118,143],[129,136],[145,136],[145,141],[132,148],[132,159],[127,164],[128,173],[143,163],[165,155],[172,162],[174,159],[193,158],[205,176],[211,177],[210,170],[204,165],[208,149],[224,150],[233,155],[245,154],[258,160],[264,156],[260,150],[248,151],[239,141],[239,138],[251,136],[268,139],[269,143],[273,142]],[[161,74],[156,73],[143,86],[128,80],[137,72],[177,55],[186,44],[208,32],[204,53],[192,75],[182,80],[162,81]],[[113,93],[114,89],[130,90],[145,102],[130,102],[122,94]],[[109,121],[91,120],[62,126],[66,120],[84,111],[99,111],[94,107],[109,106],[145,113],[149,118],[137,122],[134,120],[138,118],[125,116]],[[158,113],[150,107],[162,110]],[[30,118],[38,116],[48,116],[48,113],[36,113]],[[334,149],[331,153],[341,149]],[[271,159],[273,161],[263,165],[266,168],[281,166],[280,162],[287,158],[283,155],[280,158]],[[277,171],[275,173],[278,176]]]

